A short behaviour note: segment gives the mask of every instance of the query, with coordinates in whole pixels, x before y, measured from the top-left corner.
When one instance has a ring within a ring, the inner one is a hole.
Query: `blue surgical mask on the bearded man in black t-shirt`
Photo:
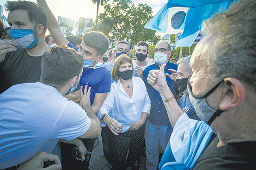
[[[11,39],[23,49],[31,49],[38,42],[38,37],[34,37],[32,29],[10,29]]]

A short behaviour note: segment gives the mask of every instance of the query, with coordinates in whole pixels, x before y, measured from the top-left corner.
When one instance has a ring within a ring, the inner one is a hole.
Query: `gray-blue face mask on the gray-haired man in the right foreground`
[[[224,80],[224,79],[223,79]],[[223,81],[222,80],[222,81]],[[202,96],[195,96],[192,93],[192,87],[189,83],[187,83],[187,89],[188,89],[188,96],[190,97],[190,102],[194,107],[194,110],[196,110],[197,116],[204,121],[205,123],[207,123],[208,125],[210,125],[212,123],[212,121],[214,121],[214,119],[217,116],[220,116],[221,113],[223,112],[223,110],[215,110],[212,109],[209,104],[206,101],[206,97],[208,97],[209,95],[211,95],[212,92],[214,92],[214,90],[222,83],[222,81],[220,81],[220,83],[218,83],[217,85],[215,85],[214,87],[212,87],[211,90],[209,90],[208,92],[205,93],[205,95]]]

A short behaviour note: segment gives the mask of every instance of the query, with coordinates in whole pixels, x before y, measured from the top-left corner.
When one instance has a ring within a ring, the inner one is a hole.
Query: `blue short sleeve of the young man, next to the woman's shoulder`
[[[111,74],[109,71],[105,73],[101,79],[99,86],[97,86],[96,93],[108,93],[111,88]]]

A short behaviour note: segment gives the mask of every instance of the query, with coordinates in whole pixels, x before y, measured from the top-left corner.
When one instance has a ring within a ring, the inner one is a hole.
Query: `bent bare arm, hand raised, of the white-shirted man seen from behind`
[[[101,133],[101,125],[100,121],[95,115],[94,111],[92,110],[90,106],[90,87],[88,88],[88,85],[84,87],[84,93],[83,93],[83,87],[81,86],[80,93],[81,93],[81,100],[80,105],[84,110],[87,112],[87,116],[91,120],[90,128],[87,130],[87,132],[83,135],[81,135],[79,138],[95,138],[100,135]]]

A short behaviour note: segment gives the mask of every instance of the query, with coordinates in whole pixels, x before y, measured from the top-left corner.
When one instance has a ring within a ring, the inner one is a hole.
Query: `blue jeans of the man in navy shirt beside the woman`
[[[168,126],[155,125],[148,120],[145,123],[146,167],[147,170],[156,170],[159,163],[159,154],[166,148],[166,131]]]

